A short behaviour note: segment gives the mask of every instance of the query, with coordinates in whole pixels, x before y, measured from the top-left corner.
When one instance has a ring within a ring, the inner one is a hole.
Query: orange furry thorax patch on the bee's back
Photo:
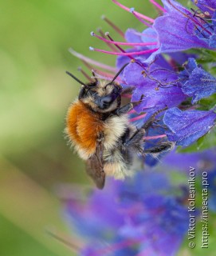
[[[69,139],[78,149],[87,154],[96,150],[96,138],[104,130],[104,122],[100,114],[88,109],[81,101],[73,102],[66,118]]]

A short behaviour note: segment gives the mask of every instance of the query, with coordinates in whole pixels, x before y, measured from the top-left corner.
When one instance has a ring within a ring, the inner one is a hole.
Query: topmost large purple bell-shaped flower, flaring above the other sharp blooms
[[[148,62],[152,62],[157,54],[172,53],[191,48],[208,48],[208,44],[194,35],[195,26],[201,26],[198,18],[193,18],[187,8],[173,0],[163,0],[166,12],[155,19],[153,30],[157,34],[159,50],[151,54]],[[143,34],[145,30],[143,31]]]

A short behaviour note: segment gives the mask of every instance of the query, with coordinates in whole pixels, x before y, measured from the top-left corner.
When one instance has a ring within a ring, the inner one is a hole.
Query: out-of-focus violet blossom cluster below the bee
[[[139,170],[134,178],[125,181],[108,178],[104,190],[89,193],[88,187],[72,186],[65,200],[65,218],[82,240],[77,255],[178,254],[183,240],[187,240],[190,192],[184,182],[174,185],[168,176],[179,173],[188,178],[187,169],[194,166],[197,180],[202,184],[202,172],[208,170],[208,213],[215,214],[215,157],[215,150],[193,154],[173,151],[155,170]],[[198,222],[202,202],[197,203],[194,214]]]

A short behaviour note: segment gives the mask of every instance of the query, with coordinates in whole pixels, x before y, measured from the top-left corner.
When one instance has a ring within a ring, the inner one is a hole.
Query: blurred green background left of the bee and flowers
[[[147,1],[121,2],[153,17],[156,14]],[[67,108],[79,90],[65,70],[84,80],[77,71],[82,62],[69,54],[71,46],[115,64],[115,57],[88,50],[88,46],[107,47],[90,36],[99,26],[120,40],[100,19],[102,14],[122,30],[142,29],[132,14],[111,0],[1,2],[1,256],[73,255],[45,230],[52,228],[61,237],[69,234],[55,192],[57,184],[90,184],[83,163],[69,150],[63,135]]]

